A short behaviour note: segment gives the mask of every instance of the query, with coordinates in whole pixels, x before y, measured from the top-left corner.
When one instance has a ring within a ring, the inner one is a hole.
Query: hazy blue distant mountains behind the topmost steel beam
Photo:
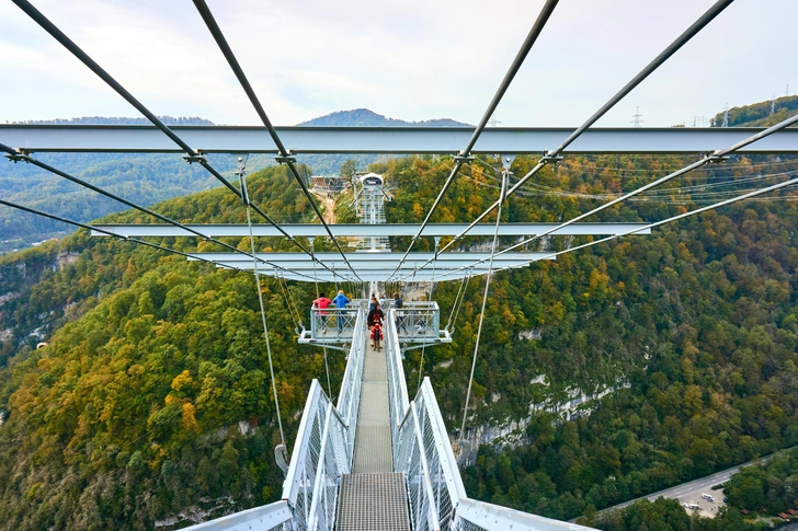
[[[200,117],[159,116],[167,125],[214,125]],[[149,125],[146,118],[88,116],[69,119],[29,120],[24,124],[48,125]],[[459,122],[433,119],[404,122],[386,118],[368,109],[342,111],[314,118],[300,125],[335,126],[466,126]],[[189,165],[174,154],[133,154],[133,153],[37,153],[37,159],[59,170],[102,186],[109,192],[125,197],[138,205],[150,206],[170,197],[180,197],[218,185],[218,181],[197,164]],[[308,164],[317,174],[338,174],[341,165],[354,159],[360,169],[373,162],[386,160],[381,155],[300,155],[299,162]],[[226,154],[208,155],[210,163],[223,174],[232,176],[236,158]],[[4,161],[4,160],[3,160]],[[260,169],[273,165],[274,161],[265,155],[253,155],[250,168]],[[27,164],[0,163],[0,198],[26,205],[58,216],[87,222],[107,213],[123,210],[124,205],[98,196],[80,186],[52,175],[44,170]],[[60,238],[72,229],[48,219],[0,209],[0,255],[25,249],[42,241]]]

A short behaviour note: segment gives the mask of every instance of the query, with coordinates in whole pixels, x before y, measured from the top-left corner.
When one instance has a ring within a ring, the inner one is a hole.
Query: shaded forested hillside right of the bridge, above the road
[[[535,162],[517,159],[514,173]],[[506,220],[570,219],[597,204],[590,196],[605,199],[685,162],[567,158],[510,199]],[[444,159],[392,161],[388,174],[397,192],[389,221],[420,220],[451,168]],[[797,170],[796,160],[738,157],[602,219],[662,219]],[[498,196],[497,175],[472,164],[435,221],[476,217]],[[480,449],[465,470],[469,495],[569,519],[589,505],[603,508],[798,443],[798,209],[790,195],[497,275],[469,427],[522,424],[511,438],[515,448]],[[582,241],[556,239],[533,249]],[[483,286],[470,281],[454,343],[426,351],[424,370],[449,428],[463,415]],[[441,284],[435,299],[449,308],[457,289]],[[539,339],[522,339],[525,331]],[[408,359],[414,386],[418,351]],[[574,389],[616,391],[567,420],[557,409]]]

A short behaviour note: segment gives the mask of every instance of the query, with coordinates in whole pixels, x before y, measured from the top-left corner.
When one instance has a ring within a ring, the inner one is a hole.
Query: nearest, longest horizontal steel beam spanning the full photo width
[[[194,150],[204,153],[273,153],[265,127],[173,126]],[[559,146],[573,128],[494,127],[486,129],[472,153],[540,154]],[[761,128],[591,128],[566,153],[705,153],[726,148]],[[457,153],[471,127],[277,127],[295,154]],[[153,126],[0,124],[0,142],[29,152],[89,151],[182,153]],[[785,129],[740,150],[748,153],[798,153],[798,129]]]

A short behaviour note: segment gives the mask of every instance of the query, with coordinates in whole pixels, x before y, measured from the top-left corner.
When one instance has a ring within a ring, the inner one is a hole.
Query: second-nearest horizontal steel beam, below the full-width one
[[[501,236],[531,236],[542,234],[558,223],[502,223],[499,226]],[[249,238],[249,228],[246,224],[187,224],[190,230],[168,224],[96,224],[105,232],[112,232],[128,238],[179,238],[195,236],[191,230],[212,238]],[[324,227],[320,224],[283,224],[288,234],[295,238],[326,236]],[[420,223],[384,223],[384,224],[331,224],[329,226],[335,238],[372,238],[372,236],[412,236],[421,227]],[[430,223],[424,228],[424,236],[454,236],[466,229],[468,223]],[[574,223],[556,235],[614,235],[628,234],[646,223]],[[469,236],[492,236],[495,226],[492,223],[478,224],[468,233]],[[255,236],[282,236],[281,232],[269,224],[252,226]],[[650,234],[651,230],[641,230],[637,234]],[[107,235],[103,232],[92,231],[93,236]]]

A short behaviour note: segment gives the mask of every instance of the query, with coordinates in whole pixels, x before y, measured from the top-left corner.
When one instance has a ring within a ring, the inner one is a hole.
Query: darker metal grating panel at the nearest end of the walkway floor
[[[410,531],[403,474],[351,474],[341,480],[338,531]]]

